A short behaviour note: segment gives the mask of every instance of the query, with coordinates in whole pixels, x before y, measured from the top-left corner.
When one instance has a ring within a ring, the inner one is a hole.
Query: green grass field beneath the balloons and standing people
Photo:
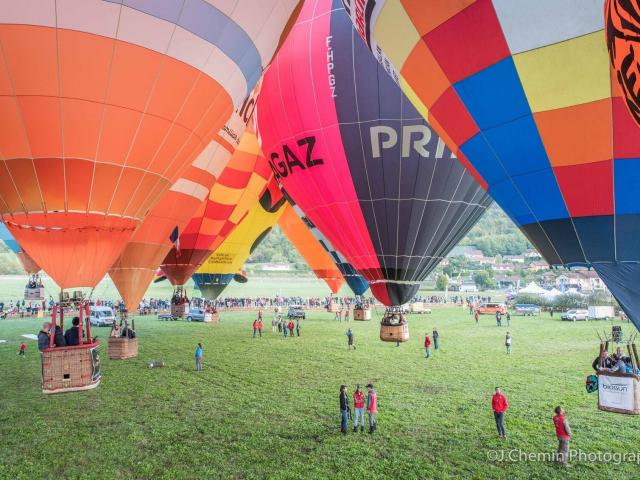
[[[380,317],[377,312],[376,317]],[[36,320],[0,322],[0,478],[638,478],[634,463],[488,460],[495,449],[550,452],[552,409],[562,404],[572,448],[640,451],[640,418],[597,410],[584,390],[606,323],[514,317],[505,327],[462,309],[410,317],[411,341],[380,342],[378,322],[346,325],[310,314],[301,338],[251,338],[253,314],[220,325],[137,319],[140,355],[110,361],[102,384],[58,396],[40,393],[39,357],[20,335]],[[270,320],[270,318],[269,318]],[[441,348],[424,359],[423,335],[437,326]],[[99,330],[106,337],[107,329]],[[204,371],[194,371],[195,344]],[[163,360],[165,368],[147,362]],[[339,433],[338,387],[375,383],[378,431]],[[496,437],[490,397],[505,390],[509,438]]]

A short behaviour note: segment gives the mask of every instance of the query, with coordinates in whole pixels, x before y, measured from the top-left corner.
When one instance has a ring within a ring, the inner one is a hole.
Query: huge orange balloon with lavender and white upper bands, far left
[[[100,281],[252,91],[299,1],[227,3],[3,2],[0,216],[61,288]]]

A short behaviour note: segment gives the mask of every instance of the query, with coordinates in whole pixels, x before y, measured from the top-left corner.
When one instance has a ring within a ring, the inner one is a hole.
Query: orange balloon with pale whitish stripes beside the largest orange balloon
[[[259,86],[234,112],[209,147],[193,161],[187,173],[162,197],[109,270],[109,276],[128,310],[137,308],[156,276],[158,265],[171,250],[173,243],[170,237],[179,235],[198,207],[203,205],[236,149],[240,148],[238,155],[242,155],[246,145],[252,143],[253,140],[244,144],[240,141],[249,122],[249,135],[255,138],[251,119]],[[244,162],[245,157],[239,158]],[[251,168],[251,161],[247,168]]]

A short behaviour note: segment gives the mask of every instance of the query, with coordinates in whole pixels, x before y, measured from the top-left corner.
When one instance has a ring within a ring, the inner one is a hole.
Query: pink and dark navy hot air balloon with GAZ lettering
[[[287,194],[378,300],[402,305],[490,200],[342,10],[305,2],[265,73],[258,129]]]

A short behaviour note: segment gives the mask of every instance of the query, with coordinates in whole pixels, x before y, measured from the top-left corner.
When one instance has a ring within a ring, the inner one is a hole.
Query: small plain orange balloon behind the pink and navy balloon
[[[331,293],[338,293],[344,285],[344,277],[291,205],[287,205],[278,225],[309,264],[316,277],[325,281]]]

